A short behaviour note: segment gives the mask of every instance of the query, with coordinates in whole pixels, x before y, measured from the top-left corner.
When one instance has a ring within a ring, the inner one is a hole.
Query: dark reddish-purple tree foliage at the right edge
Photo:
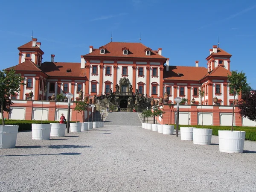
[[[252,90],[252,93],[242,94],[241,99],[238,104],[240,115],[251,121],[256,121],[256,90]]]

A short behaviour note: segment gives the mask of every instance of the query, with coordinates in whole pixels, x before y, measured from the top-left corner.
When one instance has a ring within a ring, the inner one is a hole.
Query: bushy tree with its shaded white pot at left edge
[[[0,107],[2,116],[2,125],[0,125],[0,148],[15,148],[18,125],[5,125],[3,112],[6,111],[8,114],[12,113],[13,104],[9,98],[14,95],[15,92],[20,91],[20,84],[23,78],[20,74],[15,74],[15,70],[11,69],[8,71],[0,71]]]

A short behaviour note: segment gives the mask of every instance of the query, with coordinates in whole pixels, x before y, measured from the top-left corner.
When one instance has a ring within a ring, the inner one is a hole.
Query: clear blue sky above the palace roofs
[[[0,69],[18,63],[17,47],[34,38],[43,61],[80,62],[89,45],[141,42],[163,48],[171,65],[207,67],[212,45],[232,54],[231,70],[243,71],[256,89],[254,0],[12,0],[1,2]]]

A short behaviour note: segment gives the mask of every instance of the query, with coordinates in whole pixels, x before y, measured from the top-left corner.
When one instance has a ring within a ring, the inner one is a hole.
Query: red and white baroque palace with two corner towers
[[[20,92],[12,99],[29,99],[32,92],[33,100],[51,100],[52,94],[70,92],[74,100],[78,100],[81,90],[89,98],[102,96],[115,92],[116,84],[125,77],[130,85],[122,85],[120,92],[137,90],[157,100],[167,92],[169,102],[180,96],[188,100],[186,104],[201,104],[198,91],[202,88],[203,105],[232,105],[233,102],[227,85],[232,55],[215,45],[209,49],[205,67],[199,67],[198,61],[195,67],[170,65],[169,58],[162,55],[162,48],[153,50],[141,43],[110,42],[99,48],[90,46],[89,53],[81,55],[80,63],[56,62],[55,55],[51,55],[50,62],[42,62],[44,52],[36,38],[18,50],[19,63],[14,67],[26,85],[21,85]],[[119,104],[127,107],[127,102],[120,99]]]

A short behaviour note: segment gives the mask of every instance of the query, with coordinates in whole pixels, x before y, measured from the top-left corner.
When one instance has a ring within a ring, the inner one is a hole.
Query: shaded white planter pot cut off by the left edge
[[[0,125],[0,148],[15,148],[19,125]]]

